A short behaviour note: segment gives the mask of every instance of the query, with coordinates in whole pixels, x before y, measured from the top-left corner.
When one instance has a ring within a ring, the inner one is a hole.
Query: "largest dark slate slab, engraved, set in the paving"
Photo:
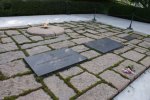
[[[26,57],[25,61],[38,76],[42,76],[86,59],[86,57],[71,49],[62,48]]]

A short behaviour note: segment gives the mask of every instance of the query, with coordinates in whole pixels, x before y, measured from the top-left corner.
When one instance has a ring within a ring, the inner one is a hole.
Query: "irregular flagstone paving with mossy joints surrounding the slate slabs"
[[[0,99],[109,100],[150,67],[150,37],[96,22],[52,25],[65,28],[65,34],[41,37],[26,33],[26,28],[0,30]],[[85,45],[102,38],[124,47],[103,54]],[[88,60],[43,77],[36,76],[23,60],[64,47]],[[123,72],[128,66],[134,74]]]

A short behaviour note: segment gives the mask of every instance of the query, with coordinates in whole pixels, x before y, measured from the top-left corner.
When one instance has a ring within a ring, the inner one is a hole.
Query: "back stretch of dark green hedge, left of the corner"
[[[68,1],[65,0],[2,0],[0,1],[0,16],[50,15],[50,14],[82,14],[107,13],[108,2]]]

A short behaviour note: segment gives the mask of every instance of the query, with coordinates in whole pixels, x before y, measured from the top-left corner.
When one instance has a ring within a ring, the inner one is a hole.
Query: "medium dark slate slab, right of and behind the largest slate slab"
[[[86,43],[85,45],[92,49],[100,51],[102,53],[111,52],[112,50],[123,47],[123,44],[117,41],[111,40],[109,38],[103,38],[103,39],[91,41],[91,42]]]

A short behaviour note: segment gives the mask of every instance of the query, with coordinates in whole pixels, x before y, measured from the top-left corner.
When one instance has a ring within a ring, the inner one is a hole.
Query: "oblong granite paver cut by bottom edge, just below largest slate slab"
[[[74,91],[55,75],[44,79],[44,82],[60,100],[69,100],[75,95]]]

